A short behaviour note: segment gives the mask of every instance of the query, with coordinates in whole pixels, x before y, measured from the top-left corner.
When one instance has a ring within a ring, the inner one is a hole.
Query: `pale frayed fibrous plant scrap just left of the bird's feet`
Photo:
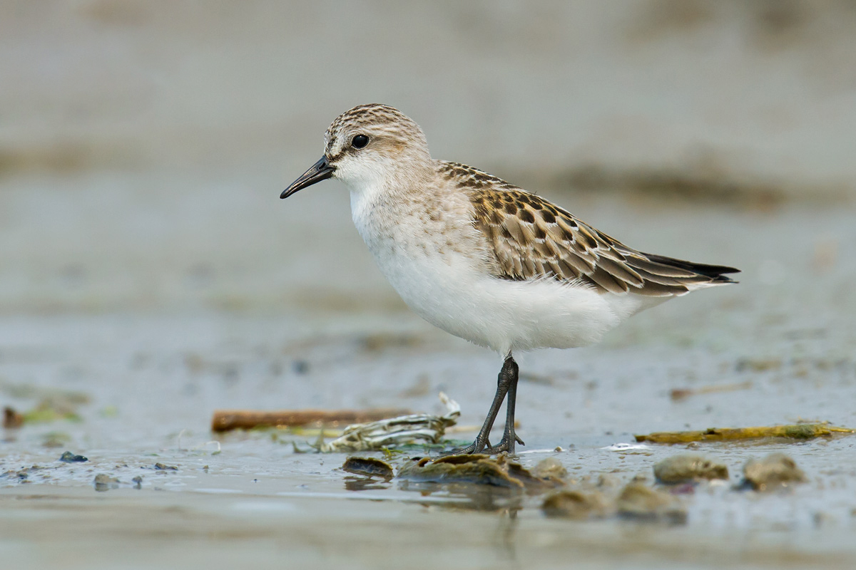
[[[440,401],[448,410],[444,415],[409,414],[388,420],[354,424],[345,428],[342,436],[329,444],[319,443],[322,453],[342,451],[380,450],[392,445],[411,444],[421,440],[437,444],[446,432],[454,426],[461,415],[461,406],[455,400],[440,392]]]

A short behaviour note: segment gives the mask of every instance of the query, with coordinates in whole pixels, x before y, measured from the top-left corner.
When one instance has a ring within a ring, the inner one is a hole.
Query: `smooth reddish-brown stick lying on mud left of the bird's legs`
[[[229,432],[234,429],[252,429],[261,426],[347,426],[363,421],[386,420],[410,414],[407,409],[283,409],[259,412],[249,409],[217,409],[211,420],[211,431]]]

